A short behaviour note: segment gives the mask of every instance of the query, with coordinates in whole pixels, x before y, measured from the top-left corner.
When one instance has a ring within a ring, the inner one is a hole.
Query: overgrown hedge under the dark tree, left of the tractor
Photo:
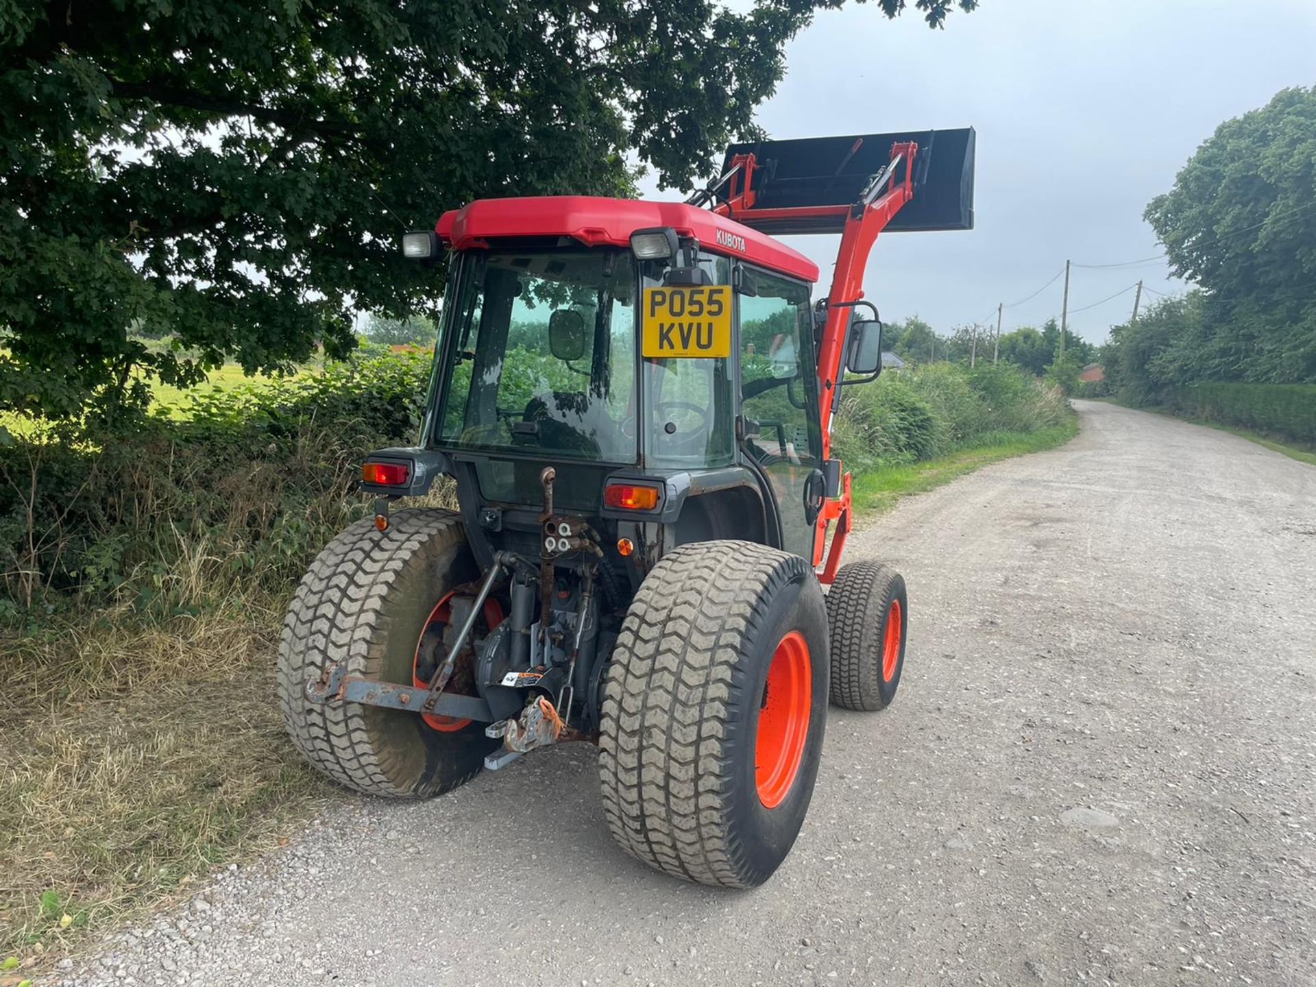
[[[286,590],[365,511],[357,467],[411,442],[429,361],[403,353],[196,395],[187,420],[61,425],[0,447],[9,609],[70,597],[158,615]],[[0,600],[0,609],[5,605]]]

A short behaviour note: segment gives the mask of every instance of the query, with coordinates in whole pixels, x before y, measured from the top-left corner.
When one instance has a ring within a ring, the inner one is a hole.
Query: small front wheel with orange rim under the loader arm
[[[841,566],[826,595],[832,628],[832,703],[886,709],[904,669],[909,605],[904,578],[878,562]]]

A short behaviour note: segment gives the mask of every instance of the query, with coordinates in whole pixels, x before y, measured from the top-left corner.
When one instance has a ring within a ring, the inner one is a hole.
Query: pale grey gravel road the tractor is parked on
[[[362,800],[104,945],[100,984],[1313,984],[1316,468],[1079,404],[903,501],[884,713],[829,713],[804,832],[724,892],[617,850],[582,745]]]

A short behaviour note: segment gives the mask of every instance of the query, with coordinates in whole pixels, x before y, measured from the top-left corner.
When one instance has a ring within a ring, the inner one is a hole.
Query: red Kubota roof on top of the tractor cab
[[[630,234],[671,226],[715,254],[740,257],[794,278],[816,283],[819,267],[804,254],[734,220],[686,203],[645,203],[587,195],[478,199],[449,209],[434,226],[454,250],[494,246],[513,237],[571,237],[588,246],[629,246]]]

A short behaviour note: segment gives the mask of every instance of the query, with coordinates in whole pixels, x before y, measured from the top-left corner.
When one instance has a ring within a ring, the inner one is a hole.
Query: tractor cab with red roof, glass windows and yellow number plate
[[[528,209],[540,236],[499,236],[505,213]],[[709,537],[812,557],[824,487],[811,261],[694,205],[611,199],[474,203],[437,238],[454,259],[425,445],[466,475],[470,521],[499,519],[478,528],[490,555],[525,508],[537,520],[551,463],[558,508],[636,525],[641,550],[615,559],[636,584],[666,547]],[[687,503],[699,497],[711,500]]]

